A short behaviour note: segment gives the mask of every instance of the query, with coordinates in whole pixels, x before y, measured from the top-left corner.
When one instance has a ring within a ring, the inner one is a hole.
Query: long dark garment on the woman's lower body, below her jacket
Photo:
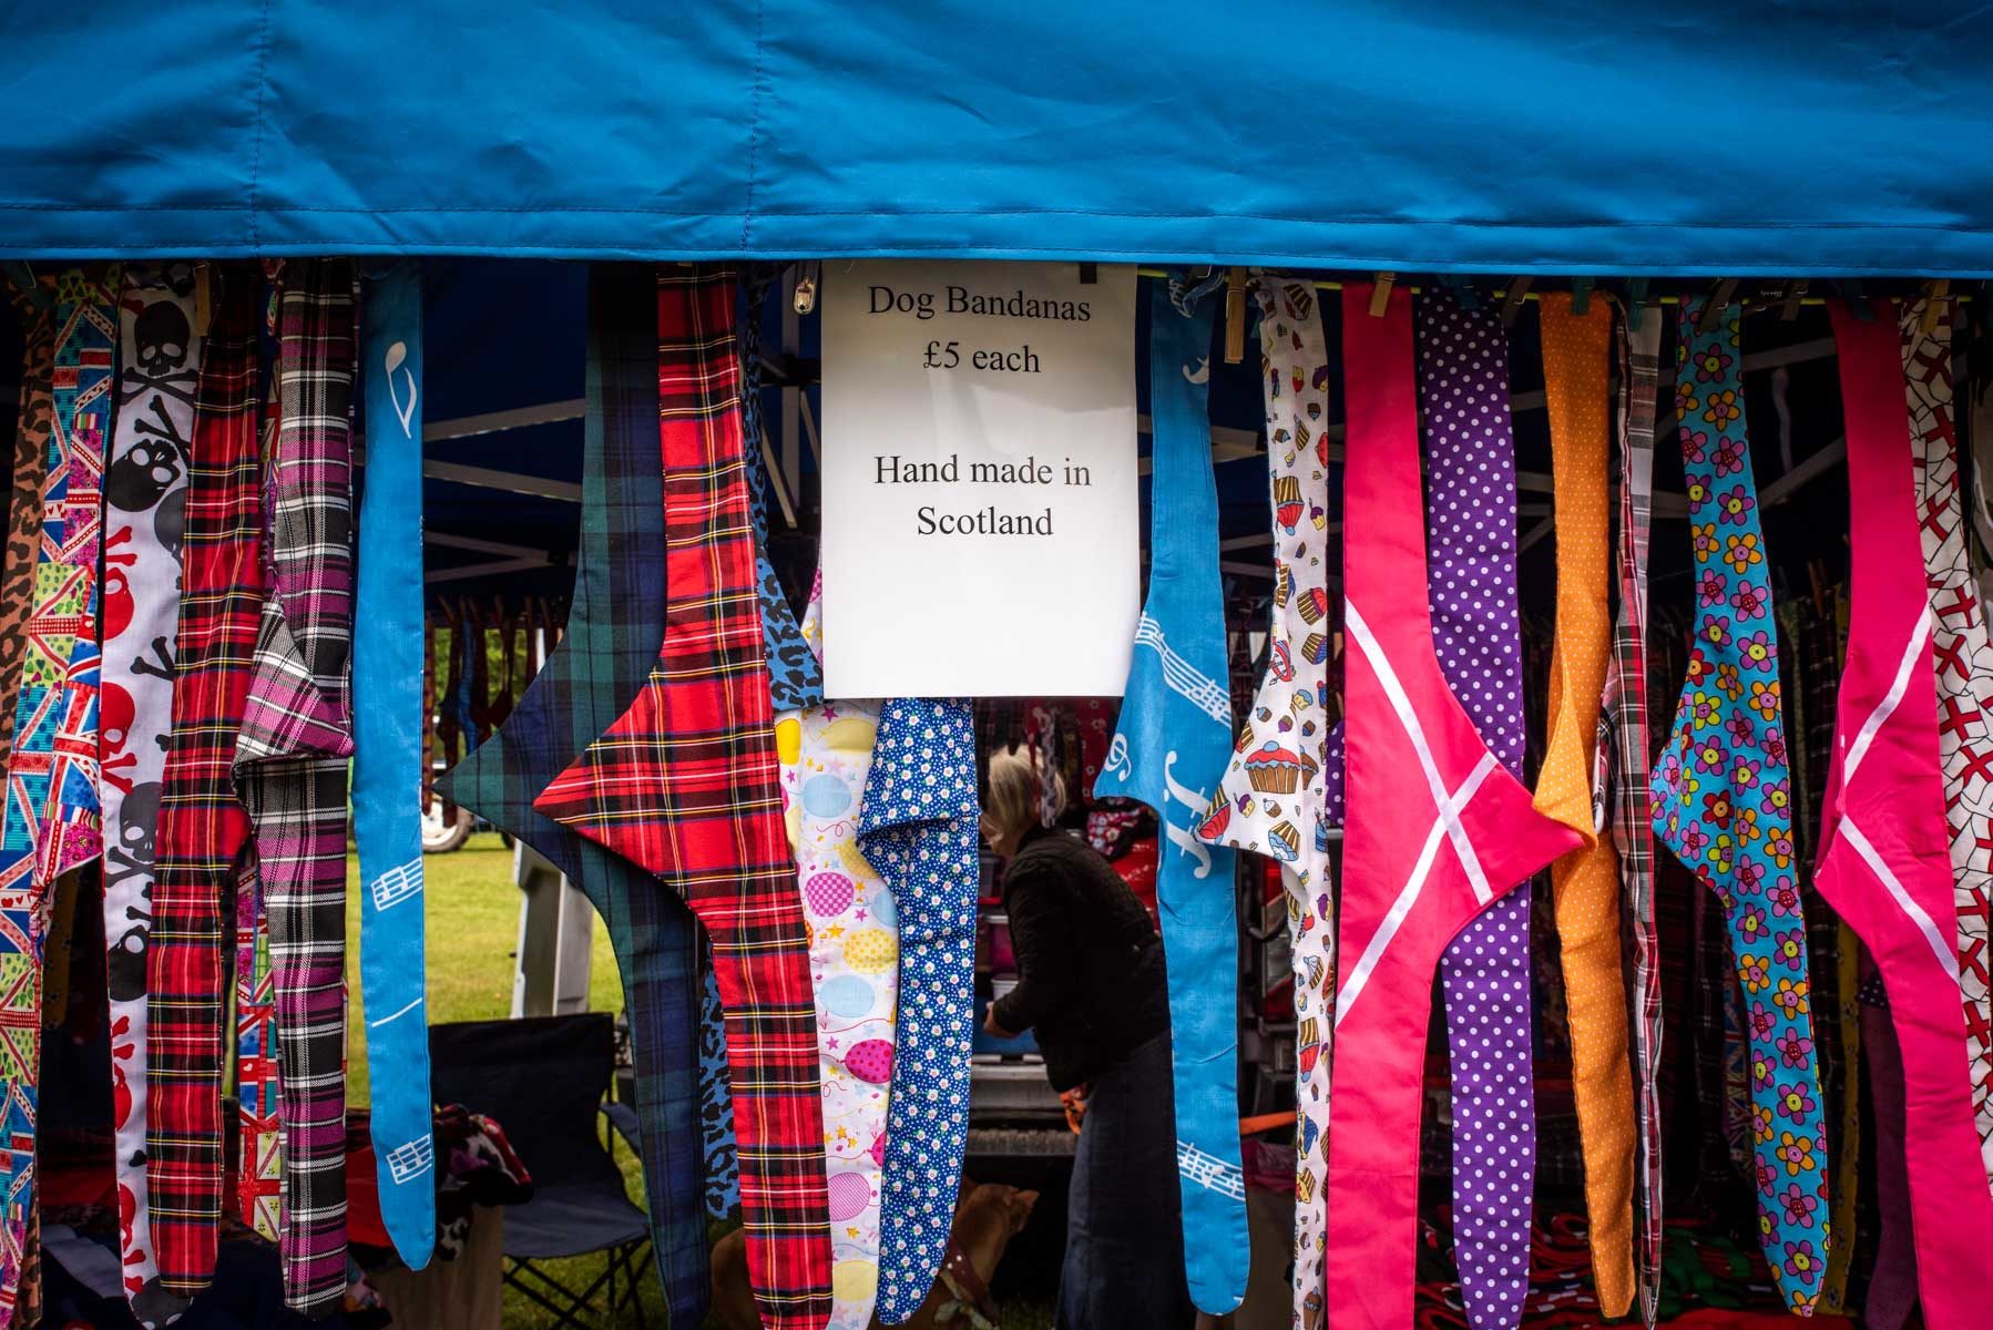
[[[1190,1322],[1170,1035],[1162,1033],[1092,1081],[1072,1161],[1054,1324],[1178,1330]]]

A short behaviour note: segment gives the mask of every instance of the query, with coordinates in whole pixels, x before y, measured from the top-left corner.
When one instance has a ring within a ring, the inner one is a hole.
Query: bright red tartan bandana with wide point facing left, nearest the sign
[[[654,871],[713,939],[747,1276],[771,1330],[831,1310],[815,999],[781,824],[721,265],[658,273],[666,630],[636,702],[534,806]]]

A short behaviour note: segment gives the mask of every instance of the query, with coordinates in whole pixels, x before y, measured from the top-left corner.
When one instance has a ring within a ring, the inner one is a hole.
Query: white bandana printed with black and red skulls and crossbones
[[[128,267],[120,307],[118,431],[104,473],[104,939],[112,1129],[126,1298],[157,1276],[145,1188],[145,937],[159,780],[173,728],[179,534],[193,391],[201,377],[193,267]],[[128,614],[112,614],[114,606]],[[145,1312],[140,1312],[143,1318]]]

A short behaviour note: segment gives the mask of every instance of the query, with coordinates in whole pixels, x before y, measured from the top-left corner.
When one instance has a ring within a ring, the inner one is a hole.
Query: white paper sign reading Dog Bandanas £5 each
[[[1134,269],[827,263],[821,299],[825,690],[1118,696]]]

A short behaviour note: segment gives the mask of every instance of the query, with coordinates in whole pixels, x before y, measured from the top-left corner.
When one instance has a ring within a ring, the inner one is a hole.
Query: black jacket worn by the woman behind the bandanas
[[[996,1003],[1006,1031],[1036,1031],[1064,1091],[1170,1029],[1162,939],[1142,901],[1094,849],[1034,830],[1002,881],[1018,985]]]

